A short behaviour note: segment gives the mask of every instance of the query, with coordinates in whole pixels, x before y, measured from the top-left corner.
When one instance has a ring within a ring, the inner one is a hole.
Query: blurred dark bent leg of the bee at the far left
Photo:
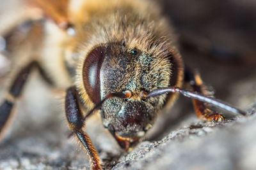
[[[46,78],[43,75],[44,71],[42,67],[40,67],[37,62],[30,62],[27,66],[23,67],[15,76],[12,85],[8,90],[6,99],[0,105],[0,139],[3,136],[3,131],[4,128],[7,126],[7,122],[10,122],[10,119],[12,118],[12,109],[15,105],[15,101],[20,96],[22,89],[24,88],[24,85],[28,80],[28,76],[34,67],[38,68],[42,76]],[[49,79],[47,79],[46,81],[51,83]]]

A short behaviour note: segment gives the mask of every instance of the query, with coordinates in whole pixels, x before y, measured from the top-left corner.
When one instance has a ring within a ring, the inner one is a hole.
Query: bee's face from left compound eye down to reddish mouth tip
[[[84,87],[93,103],[111,92],[124,92],[126,99],[111,98],[101,106],[104,127],[122,148],[140,139],[163,107],[166,95],[145,99],[151,90],[168,87],[171,64],[168,57],[143,49],[129,49],[124,42],[98,46],[84,62]]]

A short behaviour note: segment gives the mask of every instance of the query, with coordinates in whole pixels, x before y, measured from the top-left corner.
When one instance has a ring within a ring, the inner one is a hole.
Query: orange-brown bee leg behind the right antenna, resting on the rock
[[[205,96],[209,96],[210,92],[205,88],[202,79],[198,73],[192,73],[188,68],[185,69],[185,81],[189,83],[193,92],[198,92]],[[207,108],[207,104],[196,99],[193,100],[196,115],[205,120],[212,120],[214,122],[222,122],[224,116],[220,113],[214,113]]]

